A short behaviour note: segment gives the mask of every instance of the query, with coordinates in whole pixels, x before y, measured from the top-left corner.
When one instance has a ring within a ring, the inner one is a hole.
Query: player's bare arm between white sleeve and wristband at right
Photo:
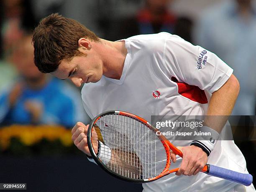
[[[231,75],[219,90],[212,93],[207,117],[204,120],[205,126],[211,127],[219,133],[221,132],[236,103],[239,89],[238,80],[234,75]]]

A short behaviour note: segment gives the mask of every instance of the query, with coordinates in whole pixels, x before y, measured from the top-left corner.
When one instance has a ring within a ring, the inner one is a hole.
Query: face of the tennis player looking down
[[[83,48],[79,49],[84,52]],[[71,60],[62,60],[58,69],[51,74],[62,80],[70,79],[77,87],[82,83],[99,81],[102,77],[102,60],[93,50],[86,54],[75,56]]]

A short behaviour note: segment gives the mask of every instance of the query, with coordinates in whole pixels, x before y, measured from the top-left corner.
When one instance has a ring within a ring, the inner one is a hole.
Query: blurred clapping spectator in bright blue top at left
[[[64,127],[73,127],[77,121],[88,123],[78,90],[39,72],[34,65],[31,35],[15,43],[12,59],[20,77],[0,94],[0,122]]]

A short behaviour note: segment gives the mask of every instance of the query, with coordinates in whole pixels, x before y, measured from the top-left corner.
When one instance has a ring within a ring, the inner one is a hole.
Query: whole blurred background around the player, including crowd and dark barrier
[[[33,29],[54,12],[107,40],[165,31],[218,55],[240,82],[231,121],[256,176],[255,0],[0,0],[0,183],[27,183],[33,192],[142,190],[110,177],[73,145],[73,125],[90,122],[80,90],[33,64]]]

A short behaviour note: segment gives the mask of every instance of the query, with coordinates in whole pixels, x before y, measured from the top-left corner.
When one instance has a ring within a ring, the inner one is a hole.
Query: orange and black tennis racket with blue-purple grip
[[[107,111],[95,117],[87,131],[87,144],[95,162],[106,172],[123,180],[145,183],[177,172],[170,169],[171,150],[182,152],[153,125],[137,115]],[[215,165],[205,165],[201,172],[249,186],[250,174]]]

